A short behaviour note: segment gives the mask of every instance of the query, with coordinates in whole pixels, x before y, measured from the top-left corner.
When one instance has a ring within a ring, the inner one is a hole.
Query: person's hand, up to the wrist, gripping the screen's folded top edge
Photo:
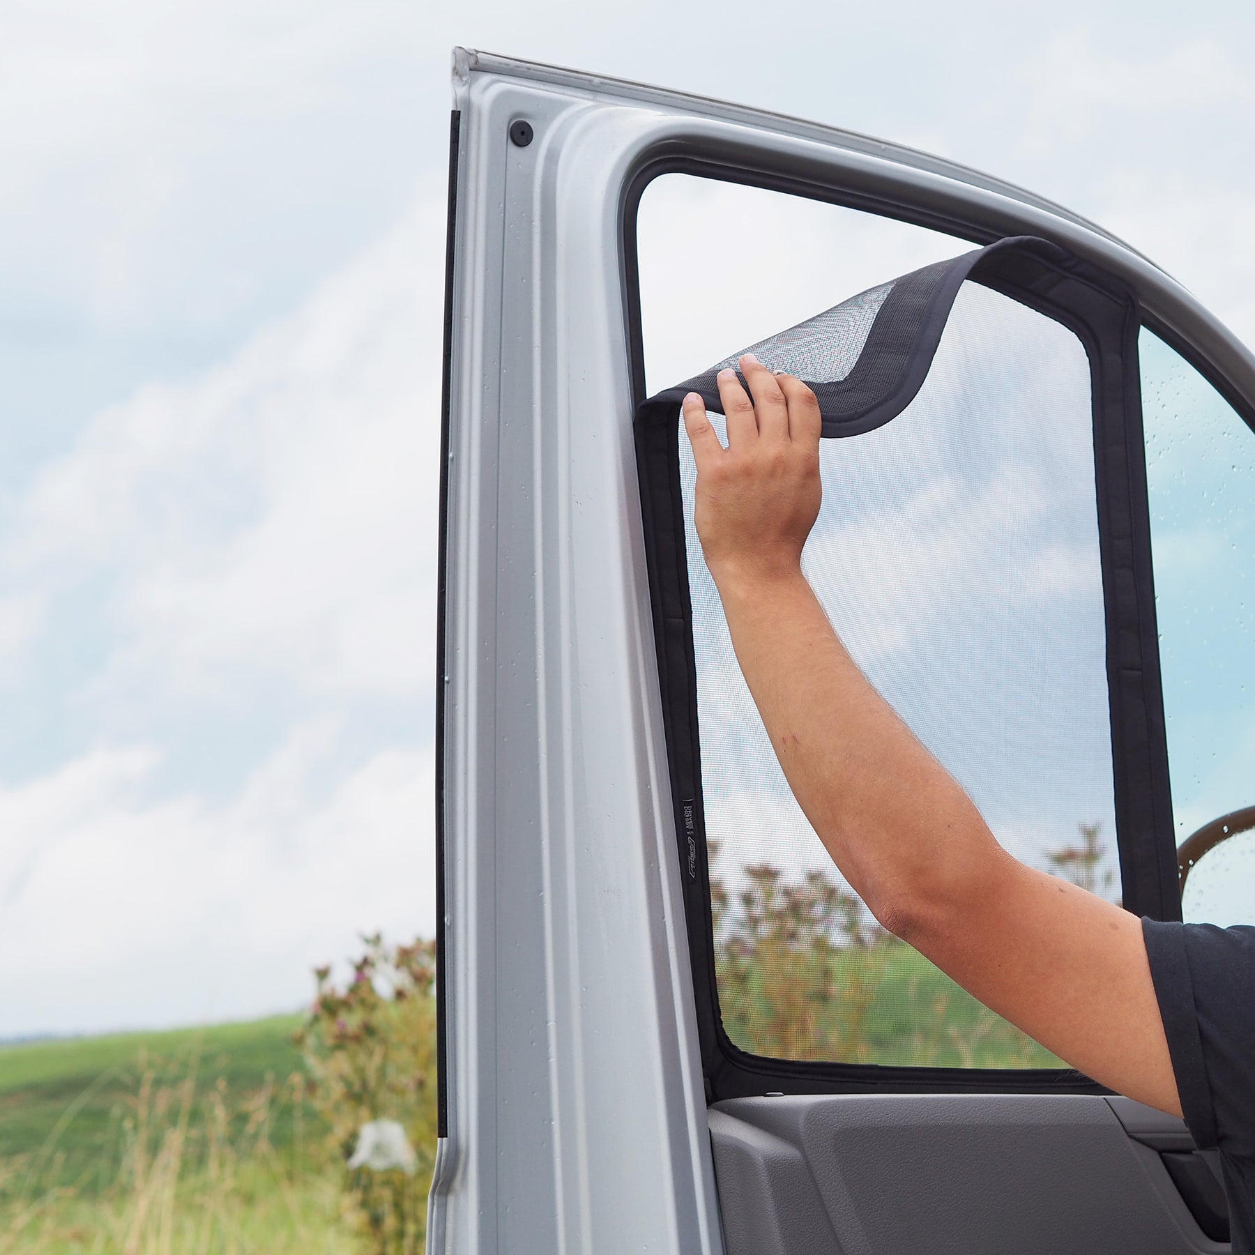
[[[727,596],[801,575],[802,546],[820,513],[820,403],[792,375],[773,375],[753,354],[740,359],[753,400],[734,370],[719,371],[728,447],[697,393],[684,398],[684,427],[697,462],[698,538]]]

